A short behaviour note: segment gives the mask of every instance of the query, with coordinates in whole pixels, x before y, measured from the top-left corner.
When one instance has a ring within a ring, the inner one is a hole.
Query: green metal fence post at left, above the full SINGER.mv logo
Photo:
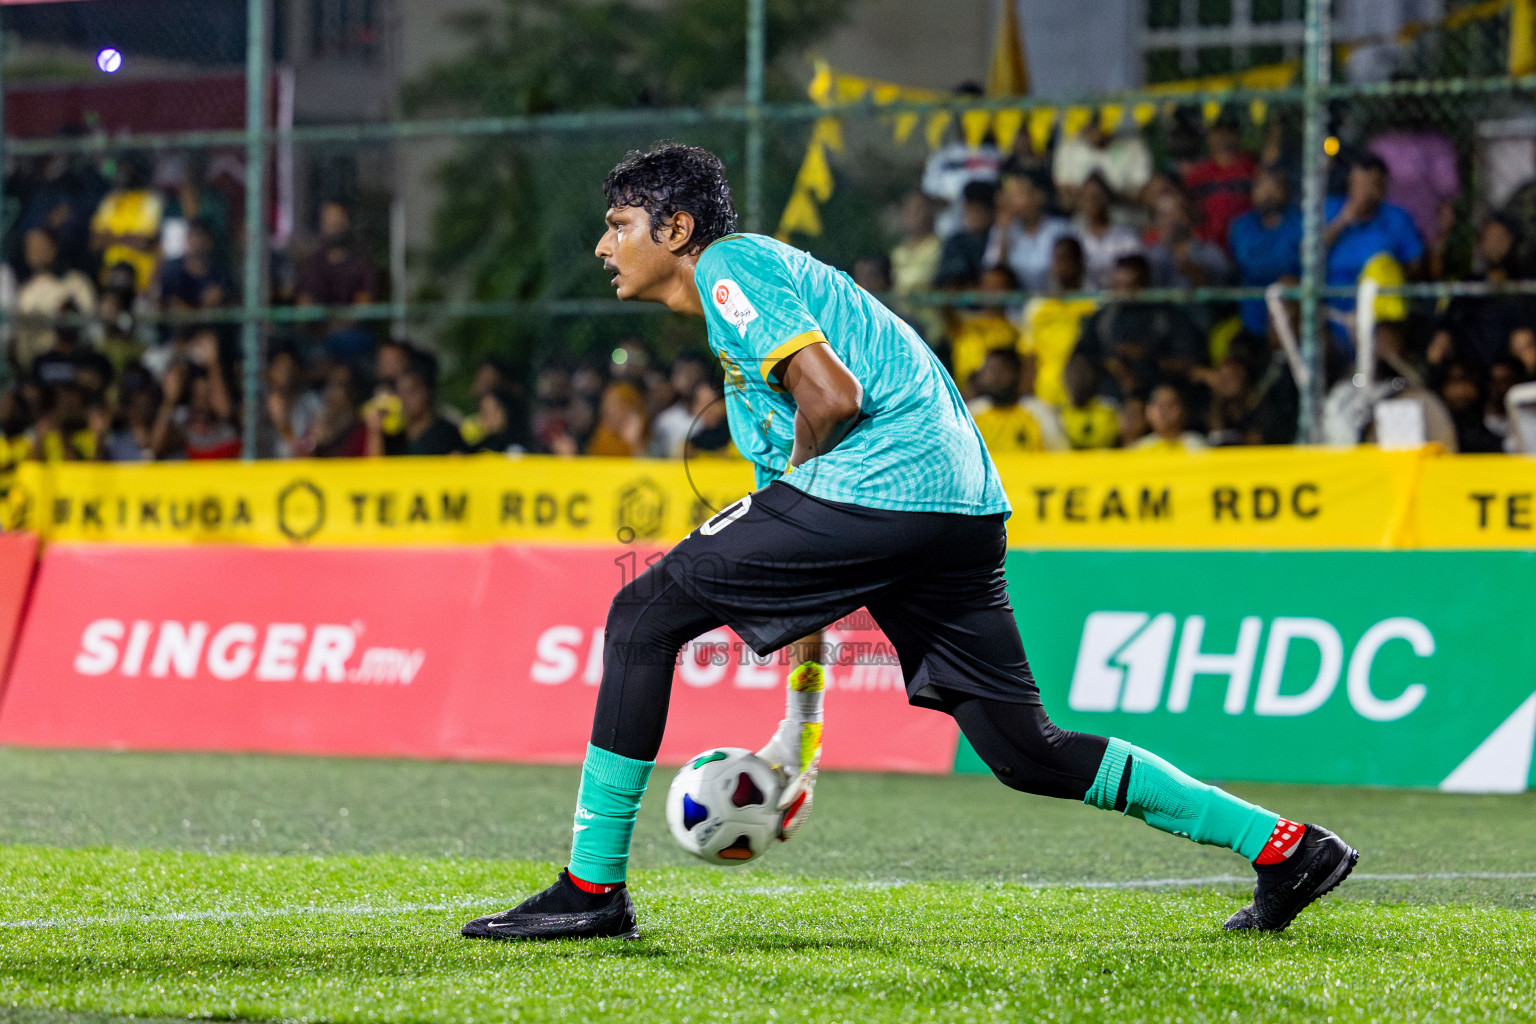
[[[267,5],[246,0],[246,273],[241,290],[240,353],[244,361],[244,418],[241,454],[257,457],[257,425],[261,418],[261,315],[266,299],[266,144],[267,126]]]

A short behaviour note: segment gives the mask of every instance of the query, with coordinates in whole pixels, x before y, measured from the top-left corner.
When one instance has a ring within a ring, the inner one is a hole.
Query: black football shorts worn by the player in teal
[[[891,640],[915,705],[949,694],[1038,705],[1003,580],[1003,516],[889,511],[774,482],[667,553],[668,574],[759,656],[859,608]]]

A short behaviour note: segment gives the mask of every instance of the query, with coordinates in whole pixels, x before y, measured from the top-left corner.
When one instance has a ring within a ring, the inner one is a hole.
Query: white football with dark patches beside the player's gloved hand
[[[779,772],[740,746],[699,754],[667,792],[667,824],[685,851],[711,864],[745,864],[779,838]]]

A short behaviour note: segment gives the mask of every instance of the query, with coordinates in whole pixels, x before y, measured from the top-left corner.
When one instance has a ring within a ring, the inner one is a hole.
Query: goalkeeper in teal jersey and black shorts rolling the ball
[[[1124,740],[1052,725],[1003,579],[1003,484],[922,338],[846,275],[734,233],[725,170],[703,149],[631,152],[604,192],[604,270],[621,299],[705,319],[757,490],[614,597],[568,867],[464,935],[637,935],[625,866],[682,645],[723,623],[766,654],[859,608],[894,645],[908,700],[954,715],[1005,786],[1129,814],[1252,861],[1253,903],[1227,929],[1284,929],[1349,875],[1358,854],[1327,829]],[[809,812],[819,691],[814,671],[793,674],[790,715],[763,751],[786,777],[786,835]]]

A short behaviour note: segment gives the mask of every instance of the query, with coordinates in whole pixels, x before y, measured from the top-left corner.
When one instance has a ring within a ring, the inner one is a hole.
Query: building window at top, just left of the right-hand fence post
[[[1304,3],[1143,0],[1143,80],[1160,84],[1298,60]]]

